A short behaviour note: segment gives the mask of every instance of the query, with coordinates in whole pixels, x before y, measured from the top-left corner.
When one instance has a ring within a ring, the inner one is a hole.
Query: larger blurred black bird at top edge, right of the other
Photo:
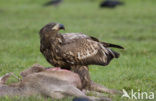
[[[103,8],[114,8],[118,5],[123,5],[124,3],[118,0],[104,0],[101,2],[100,7]]]

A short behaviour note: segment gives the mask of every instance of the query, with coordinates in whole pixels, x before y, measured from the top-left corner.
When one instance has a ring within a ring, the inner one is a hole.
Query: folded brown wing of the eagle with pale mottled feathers
[[[69,38],[69,37],[68,37]],[[73,38],[61,47],[62,57],[67,63],[75,65],[107,65],[118,53],[88,37]]]

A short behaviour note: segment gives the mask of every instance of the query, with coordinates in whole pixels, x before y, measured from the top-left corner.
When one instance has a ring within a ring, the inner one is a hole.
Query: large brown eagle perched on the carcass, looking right
[[[65,30],[64,25],[54,22],[40,30],[40,51],[51,65],[78,73],[84,82],[90,81],[88,65],[106,66],[120,56],[111,47],[124,49],[83,33],[61,34],[60,30]]]

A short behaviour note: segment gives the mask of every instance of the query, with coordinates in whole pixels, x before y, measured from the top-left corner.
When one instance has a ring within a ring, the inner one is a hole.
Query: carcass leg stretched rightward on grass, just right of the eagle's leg
[[[121,91],[106,88],[100,84],[93,82],[93,81],[91,81],[90,90],[101,92],[101,93],[122,94]]]

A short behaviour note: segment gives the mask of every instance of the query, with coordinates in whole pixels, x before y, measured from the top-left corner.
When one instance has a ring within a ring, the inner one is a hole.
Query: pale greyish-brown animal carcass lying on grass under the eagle
[[[52,99],[61,99],[66,96],[85,97],[91,101],[110,101],[109,98],[89,97],[78,89],[81,87],[77,74],[66,70],[41,71],[28,74],[16,85],[6,85],[10,74],[0,79],[0,96],[33,96],[41,95]],[[65,77],[65,78],[64,78]]]

